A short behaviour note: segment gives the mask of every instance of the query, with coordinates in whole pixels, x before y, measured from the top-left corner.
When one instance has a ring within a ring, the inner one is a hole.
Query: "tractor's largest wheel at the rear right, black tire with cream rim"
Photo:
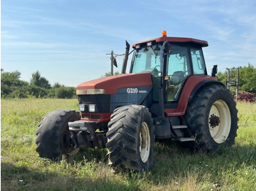
[[[187,106],[184,116],[188,128],[203,150],[234,144],[238,129],[236,102],[225,86],[203,87]]]

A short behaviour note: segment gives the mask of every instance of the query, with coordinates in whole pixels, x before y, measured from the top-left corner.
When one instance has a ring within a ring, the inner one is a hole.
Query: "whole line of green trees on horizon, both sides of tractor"
[[[117,75],[118,72],[115,73]],[[231,70],[233,78],[236,79],[236,70]],[[105,73],[108,77],[110,72]],[[226,85],[226,72],[219,71],[217,78]],[[232,90],[232,89],[231,89]],[[235,90],[235,88],[234,88]],[[239,69],[239,90],[256,93],[256,68],[248,63],[248,66]],[[32,74],[30,82],[20,80],[20,72],[7,72],[1,69],[1,98],[74,98],[75,87],[65,87],[55,83],[50,85],[39,71]]]

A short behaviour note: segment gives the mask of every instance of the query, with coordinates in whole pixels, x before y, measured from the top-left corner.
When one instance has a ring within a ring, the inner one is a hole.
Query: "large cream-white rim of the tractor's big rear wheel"
[[[208,116],[208,128],[211,137],[218,144],[227,140],[231,129],[231,115],[225,101],[219,99],[211,106]]]

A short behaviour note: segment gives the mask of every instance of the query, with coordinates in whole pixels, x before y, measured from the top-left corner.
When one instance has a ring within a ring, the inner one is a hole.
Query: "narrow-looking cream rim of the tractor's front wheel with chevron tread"
[[[140,126],[140,158],[143,163],[148,161],[151,147],[150,133],[148,124],[143,122]]]

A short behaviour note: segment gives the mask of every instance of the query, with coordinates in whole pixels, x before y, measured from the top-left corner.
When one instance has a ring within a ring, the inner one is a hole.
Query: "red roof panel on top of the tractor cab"
[[[170,37],[170,36],[162,36],[156,39],[148,39],[142,42],[136,42],[132,44],[132,47],[135,48],[136,44],[142,44],[146,42],[164,42],[167,39],[168,42],[192,42],[195,44],[200,44],[201,47],[208,47],[208,42],[199,40],[199,39],[192,39],[192,38],[184,38],[184,37]]]

